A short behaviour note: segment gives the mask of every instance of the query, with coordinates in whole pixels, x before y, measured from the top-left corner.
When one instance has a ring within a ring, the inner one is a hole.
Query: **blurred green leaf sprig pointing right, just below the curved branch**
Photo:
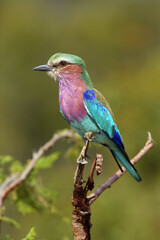
[[[60,152],[54,152],[53,154],[42,157],[38,160],[35,169],[47,169],[52,166],[52,164],[59,158]]]

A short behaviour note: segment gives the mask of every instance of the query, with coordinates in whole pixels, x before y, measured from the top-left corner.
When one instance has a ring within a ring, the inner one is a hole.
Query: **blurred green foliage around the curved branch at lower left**
[[[15,188],[10,194],[10,200],[22,215],[28,215],[35,211],[41,213],[46,211],[55,213],[56,208],[54,203],[57,198],[57,193],[43,185],[42,179],[39,176],[39,171],[50,168],[59,156],[59,152],[54,152],[51,155],[40,158],[26,181]],[[30,161],[28,161],[27,164],[29,163]],[[27,164],[22,165],[20,161],[11,156],[1,156],[0,182],[2,183],[10,174],[20,174],[26,168]],[[6,165],[5,168],[4,165]],[[3,209],[3,215],[4,212],[5,209]],[[10,217],[2,216],[1,221],[9,223],[15,228],[19,228],[19,224]]]

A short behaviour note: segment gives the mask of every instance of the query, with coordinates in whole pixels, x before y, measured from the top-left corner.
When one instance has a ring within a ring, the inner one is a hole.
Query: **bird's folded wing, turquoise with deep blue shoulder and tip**
[[[83,100],[87,113],[96,122],[98,127],[104,131],[119,148],[124,149],[113,113],[103,95],[96,89],[86,89],[83,93]]]

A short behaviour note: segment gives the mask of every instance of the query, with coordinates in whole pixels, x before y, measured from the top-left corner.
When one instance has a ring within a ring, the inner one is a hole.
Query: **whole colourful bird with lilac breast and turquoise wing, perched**
[[[142,179],[125,151],[115,117],[103,95],[93,87],[82,58],[56,53],[47,64],[34,71],[45,71],[59,85],[59,106],[65,120],[86,141],[85,134],[93,133],[92,142],[111,151],[119,168],[121,165],[138,182]]]

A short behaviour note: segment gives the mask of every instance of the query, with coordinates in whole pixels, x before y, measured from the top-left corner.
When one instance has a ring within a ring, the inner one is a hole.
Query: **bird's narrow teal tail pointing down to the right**
[[[142,180],[135,167],[129,161],[129,157],[125,151],[122,152],[121,150],[111,150],[111,153],[113,154],[116,162],[118,163],[119,161],[136,181],[140,182]],[[118,166],[120,167],[119,163]]]

